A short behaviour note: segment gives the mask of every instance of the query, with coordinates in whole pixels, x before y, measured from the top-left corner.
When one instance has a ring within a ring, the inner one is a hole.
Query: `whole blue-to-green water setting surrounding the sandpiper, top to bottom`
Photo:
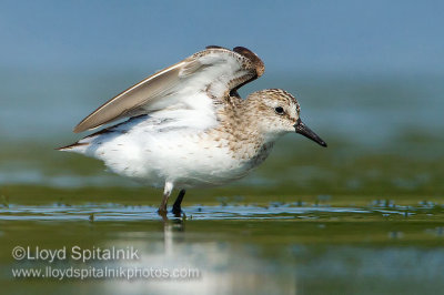
[[[438,294],[443,16],[437,0],[1,0],[2,288]],[[87,135],[72,128],[103,102],[210,44],[258,53],[265,74],[241,95],[290,91],[329,148],[289,134],[248,177],[188,192],[178,223],[155,214],[160,191],[53,150]],[[11,258],[20,243],[133,245],[141,265],[194,266],[202,277],[14,281],[11,267],[36,266]]]

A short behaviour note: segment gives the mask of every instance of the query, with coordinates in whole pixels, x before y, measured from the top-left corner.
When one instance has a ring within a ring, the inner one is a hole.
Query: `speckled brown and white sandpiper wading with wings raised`
[[[159,213],[181,213],[185,190],[222,185],[245,176],[282,135],[296,132],[326,143],[300,119],[289,92],[268,89],[241,99],[238,89],[264,72],[262,60],[243,47],[205,50],[144,79],[109,100],[75,128],[102,129],[60,148],[100,159],[120,175],[163,187]]]

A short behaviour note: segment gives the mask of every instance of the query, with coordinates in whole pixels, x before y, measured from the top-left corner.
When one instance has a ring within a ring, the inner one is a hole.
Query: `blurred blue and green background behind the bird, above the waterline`
[[[294,165],[305,153],[314,157],[294,177],[316,169],[319,157],[346,164],[343,157],[356,153],[390,153],[403,171],[413,163],[400,156],[420,166],[442,163],[443,12],[441,1],[1,1],[0,184],[94,185],[108,177],[132,185],[100,174],[93,161],[87,165],[101,180],[75,181],[64,163],[51,174],[49,163],[58,162],[50,159],[72,157],[52,149],[82,136],[72,128],[104,101],[209,44],[255,51],[265,74],[241,94],[292,92],[303,119],[330,143],[324,151],[301,136],[281,141],[274,157],[295,157]],[[354,162],[353,170],[363,165]],[[432,174],[391,181],[412,186],[434,181]],[[357,187],[362,180],[349,182]]]

